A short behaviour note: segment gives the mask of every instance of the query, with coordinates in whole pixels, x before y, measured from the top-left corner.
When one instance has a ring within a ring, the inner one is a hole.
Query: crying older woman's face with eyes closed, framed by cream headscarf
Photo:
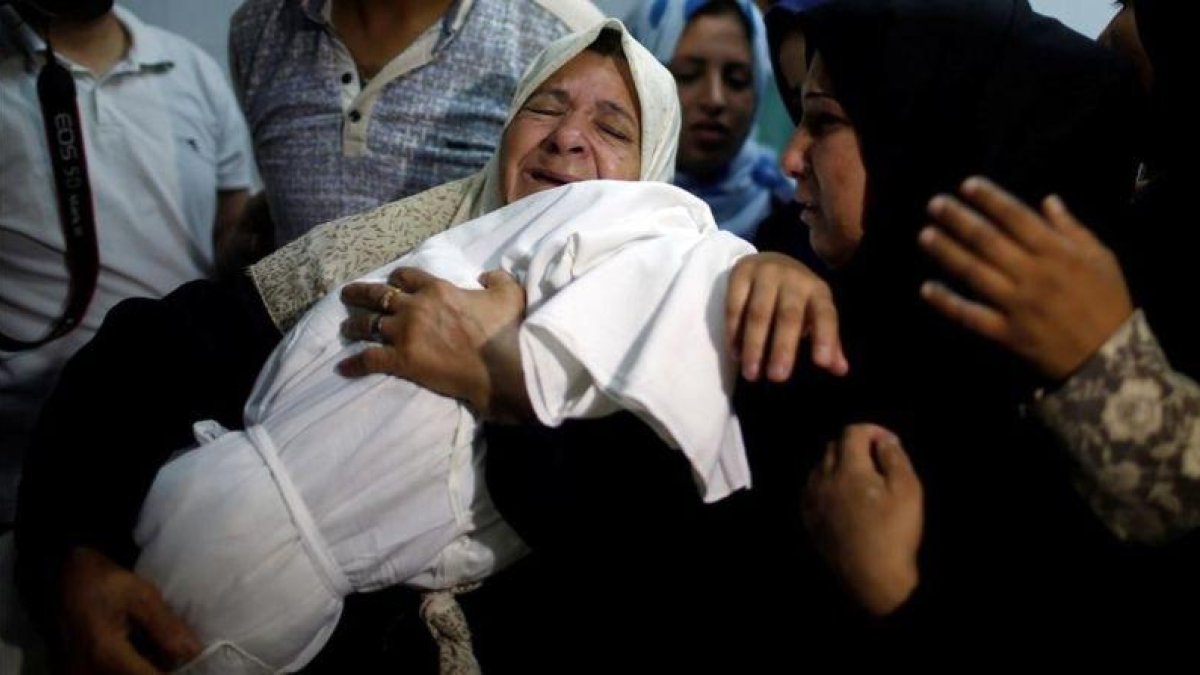
[[[526,100],[504,132],[504,203],[577,180],[637,180],[640,118],[629,66],[580,53]]]

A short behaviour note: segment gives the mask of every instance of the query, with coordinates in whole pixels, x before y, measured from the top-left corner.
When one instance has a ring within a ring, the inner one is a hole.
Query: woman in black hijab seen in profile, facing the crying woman
[[[788,512],[814,459],[798,436],[812,448],[846,424],[880,424],[908,449],[928,501],[922,586],[899,622],[986,643],[1118,620],[1121,552],[1073,494],[1064,455],[1021,414],[1043,382],[922,303],[935,269],[917,234],[934,195],[979,174],[1025,199],[1057,193],[1108,235],[1132,189],[1130,144],[1112,132],[1134,119],[1130,73],[1024,0],[834,0],[803,13],[782,2],[768,29],[776,60],[794,60],[787,42],[800,32],[828,73],[814,96],[776,64],[785,102],[804,115],[785,166],[811,202],[814,249],[833,263],[852,370],[844,383],[798,381],[791,395],[744,393],[756,486]],[[817,145],[846,127],[865,174],[848,226]]]

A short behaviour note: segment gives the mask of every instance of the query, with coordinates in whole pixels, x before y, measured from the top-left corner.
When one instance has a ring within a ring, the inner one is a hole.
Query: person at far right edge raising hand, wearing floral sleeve
[[[1195,178],[1186,139],[1195,133],[1178,96],[1190,65],[1183,32],[1168,28],[1195,25],[1196,14],[1187,4],[1136,0],[1102,36],[1140,66],[1151,101],[1150,179],[1116,243],[1132,294],[1112,252],[1052,202],[1038,211],[997,187],[965,192],[974,208],[943,197],[940,228],[922,235],[980,297],[931,286],[934,306],[1055,381],[1034,411],[1076,458],[1093,509],[1117,536],[1156,544],[1200,526],[1200,329],[1194,285],[1180,274],[1200,245],[1184,193]],[[979,227],[988,235],[971,240]],[[1007,281],[991,285],[989,275]],[[1190,538],[1175,546],[1200,542]]]

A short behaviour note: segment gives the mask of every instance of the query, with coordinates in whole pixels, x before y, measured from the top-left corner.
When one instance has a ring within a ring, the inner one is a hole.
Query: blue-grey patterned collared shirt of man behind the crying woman
[[[359,78],[330,0],[248,0],[234,80],[282,246],[313,226],[455,180],[496,151],[526,66],[600,13],[584,0],[456,0]]]

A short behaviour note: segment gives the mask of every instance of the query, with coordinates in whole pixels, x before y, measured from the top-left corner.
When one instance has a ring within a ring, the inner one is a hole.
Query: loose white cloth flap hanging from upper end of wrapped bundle
[[[544,424],[629,410],[688,456],[713,502],[750,485],[721,345],[728,270],[754,249],[682,195],[622,190],[534,257],[521,357]]]

